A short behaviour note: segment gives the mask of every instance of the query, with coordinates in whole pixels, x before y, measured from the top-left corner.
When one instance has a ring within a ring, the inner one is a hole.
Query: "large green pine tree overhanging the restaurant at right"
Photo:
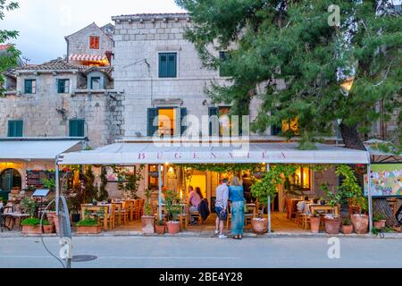
[[[205,66],[230,73],[230,85],[209,88],[213,101],[242,115],[253,97],[261,99],[253,130],[297,118],[306,148],[333,135],[339,122],[346,146],[364,149],[364,134],[381,116],[389,120],[396,111],[401,122],[402,17],[386,1],[337,1],[335,25],[329,24],[331,0],[176,2],[191,15],[186,38]],[[211,46],[230,56],[222,61]],[[351,89],[340,88],[348,79],[354,79]],[[401,130],[391,138],[399,149]]]

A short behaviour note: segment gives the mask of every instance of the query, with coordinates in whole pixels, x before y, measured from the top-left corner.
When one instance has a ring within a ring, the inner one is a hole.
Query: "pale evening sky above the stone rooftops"
[[[20,8],[5,13],[2,29],[16,29],[13,44],[29,63],[43,63],[66,54],[64,36],[92,22],[101,27],[111,17],[135,13],[184,12],[173,0],[17,0]]]

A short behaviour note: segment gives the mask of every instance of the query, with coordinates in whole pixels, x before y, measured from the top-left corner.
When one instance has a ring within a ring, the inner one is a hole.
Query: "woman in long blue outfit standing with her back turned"
[[[239,177],[233,177],[229,187],[231,201],[231,234],[233,239],[243,239],[244,231],[244,189]]]

